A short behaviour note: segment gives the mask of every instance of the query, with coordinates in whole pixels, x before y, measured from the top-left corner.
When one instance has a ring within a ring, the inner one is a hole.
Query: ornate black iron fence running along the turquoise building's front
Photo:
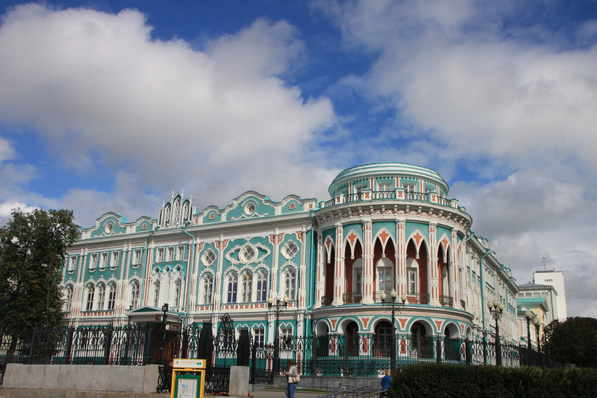
[[[252,336],[247,329],[237,335],[227,315],[220,320],[215,336],[211,323],[193,324],[179,331],[165,331],[163,326],[85,326],[24,332],[0,329],[0,384],[7,363],[157,363],[162,365],[158,390],[164,390],[171,381],[168,365],[175,357],[206,359],[206,391],[210,392],[227,391],[232,365],[249,366],[250,382],[266,384],[285,370],[288,360],[297,363],[302,375],[365,377],[383,374],[392,360],[396,366],[420,362],[561,366],[543,353],[513,344],[496,347],[485,341],[411,334],[396,335],[392,344],[390,336],[328,334],[282,336],[280,369],[273,369],[273,344],[264,344],[260,340],[263,336]]]

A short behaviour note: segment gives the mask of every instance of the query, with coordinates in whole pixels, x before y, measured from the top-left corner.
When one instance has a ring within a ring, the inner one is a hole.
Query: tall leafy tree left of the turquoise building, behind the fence
[[[60,269],[79,236],[73,212],[17,209],[12,215],[0,229],[0,326],[60,326]]]

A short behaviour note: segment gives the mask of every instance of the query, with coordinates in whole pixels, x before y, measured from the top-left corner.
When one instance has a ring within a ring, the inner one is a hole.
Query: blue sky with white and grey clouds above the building
[[[438,171],[517,283],[597,317],[596,1],[0,0],[0,218],[329,199]]]

